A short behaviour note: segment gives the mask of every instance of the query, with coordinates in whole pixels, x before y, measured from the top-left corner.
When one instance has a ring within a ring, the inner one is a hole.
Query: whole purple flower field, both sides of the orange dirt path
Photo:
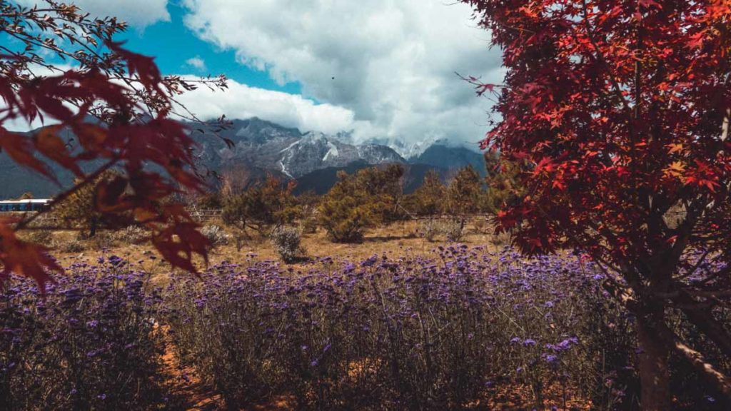
[[[166,341],[230,409],[276,396],[292,409],[637,408],[632,318],[591,263],[461,245],[429,255],[297,268],[249,256],[162,288],[100,258],[45,298],[13,279],[0,409],[179,409]],[[702,384],[680,383],[713,406]]]

